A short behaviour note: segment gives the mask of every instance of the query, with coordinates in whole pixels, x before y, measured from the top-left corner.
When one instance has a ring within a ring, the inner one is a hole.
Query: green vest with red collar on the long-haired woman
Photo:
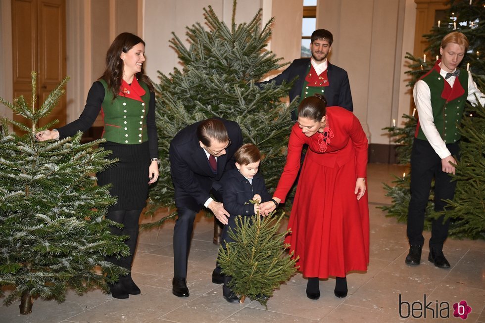
[[[112,92],[108,90],[106,82],[102,79],[99,82],[103,85],[105,92],[101,106],[104,120],[102,138],[124,144],[139,144],[147,141],[146,115],[150,92],[146,84],[143,82],[132,83],[131,86],[125,84],[125,91],[120,89],[116,98],[112,100]],[[140,89],[143,89],[145,93],[142,94],[143,91]],[[138,95],[137,92],[142,95]]]

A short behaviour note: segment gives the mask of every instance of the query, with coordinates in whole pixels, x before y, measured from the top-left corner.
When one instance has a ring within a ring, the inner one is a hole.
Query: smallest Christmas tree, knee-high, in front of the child
[[[218,263],[222,273],[232,277],[229,287],[241,295],[241,303],[249,297],[267,308],[274,289],[296,271],[293,253],[288,255],[283,242],[288,231],[278,233],[283,217],[272,217],[274,213],[264,218],[259,213],[238,216],[236,229],[228,231],[234,242],[219,248]]]

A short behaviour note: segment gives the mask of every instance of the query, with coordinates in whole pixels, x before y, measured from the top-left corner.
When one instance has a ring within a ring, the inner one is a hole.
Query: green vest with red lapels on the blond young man
[[[463,117],[468,97],[468,72],[460,69],[460,75],[455,78],[453,88],[451,88],[444,77],[439,74],[436,66],[437,64],[421,80],[430,87],[433,123],[436,130],[445,143],[454,143],[461,138],[458,125]],[[419,126],[419,115],[415,137],[428,140]]]

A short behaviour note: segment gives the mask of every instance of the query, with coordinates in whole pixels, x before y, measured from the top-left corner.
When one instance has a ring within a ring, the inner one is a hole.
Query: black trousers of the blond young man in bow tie
[[[447,144],[451,155],[460,158],[459,142]],[[443,211],[445,199],[453,199],[456,182],[441,170],[441,158],[426,140],[414,139],[411,152],[411,200],[407,217],[407,237],[411,245],[423,245],[425,209],[430,197],[431,182],[435,179],[435,211]],[[449,219],[444,216],[432,221],[430,248],[441,250],[448,236]]]

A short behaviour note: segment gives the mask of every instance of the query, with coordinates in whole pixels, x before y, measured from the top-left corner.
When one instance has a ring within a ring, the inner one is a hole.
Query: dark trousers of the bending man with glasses
[[[222,192],[213,189],[212,194],[217,201],[222,201]],[[199,209],[200,210],[200,209]],[[177,221],[173,230],[174,276],[187,277],[187,265],[194,231],[195,215],[198,213],[185,207],[177,208]],[[222,226],[214,216],[214,221]]]

